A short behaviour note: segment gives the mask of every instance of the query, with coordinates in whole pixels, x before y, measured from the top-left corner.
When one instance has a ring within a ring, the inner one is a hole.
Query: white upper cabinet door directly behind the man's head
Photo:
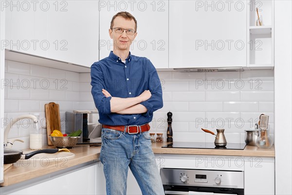
[[[132,55],[150,59],[156,68],[168,68],[168,0],[100,1],[99,59],[113,50],[109,36],[110,21],[120,11],[128,11],[137,20],[137,37]]]

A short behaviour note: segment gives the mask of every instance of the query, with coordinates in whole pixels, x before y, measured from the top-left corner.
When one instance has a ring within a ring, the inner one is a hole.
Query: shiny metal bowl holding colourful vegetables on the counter
[[[50,138],[56,148],[72,148],[76,145],[80,136],[77,136],[77,137],[50,136]]]

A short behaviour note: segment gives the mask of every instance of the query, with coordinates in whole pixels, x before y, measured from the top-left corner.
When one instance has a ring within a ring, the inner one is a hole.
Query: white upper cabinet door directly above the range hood
[[[169,1],[169,68],[245,67],[246,1]]]

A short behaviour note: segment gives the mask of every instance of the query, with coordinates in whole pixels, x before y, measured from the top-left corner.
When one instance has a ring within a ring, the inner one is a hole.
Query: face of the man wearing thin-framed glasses
[[[113,28],[123,28],[123,29],[134,29],[135,30],[135,21],[126,20],[123,17],[116,17],[113,20]],[[110,38],[113,40],[114,50],[129,50],[132,41],[136,38],[137,33],[134,35],[128,35],[126,30],[122,34],[116,33],[115,29],[110,29]]]

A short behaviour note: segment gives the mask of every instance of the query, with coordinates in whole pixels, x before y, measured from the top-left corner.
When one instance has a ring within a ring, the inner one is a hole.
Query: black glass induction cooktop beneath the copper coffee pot
[[[224,147],[215,146],[214,142],[173,142],[162,146],[162,148],[199,148],[199,149],[219,149],[219,150],[243,150],[245,143],[227,143]]]

